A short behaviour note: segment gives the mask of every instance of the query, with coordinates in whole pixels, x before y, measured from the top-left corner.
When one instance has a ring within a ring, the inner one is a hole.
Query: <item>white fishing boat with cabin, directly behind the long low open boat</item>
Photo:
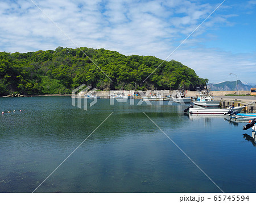
[[[200,96],[193,101],[195,105],[205,108],[218,108],[220,106],[221,101],[214,101],[213,94],[210,92],[210,89],[207,89],[206,86],[204,87],[204,90],[199,92],[199,95]]]

